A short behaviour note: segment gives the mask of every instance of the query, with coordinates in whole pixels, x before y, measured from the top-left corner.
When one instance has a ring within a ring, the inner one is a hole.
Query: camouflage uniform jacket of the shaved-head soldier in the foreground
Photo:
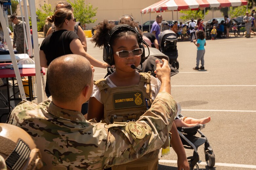
[[[40,104],[23,100],[8,123],[32,136],[41,150],[43,169],[101,170],[160,149],[176,112],[175,100],[161,92],[138,121],[107,125],[90,123],[82,113],[59,108],[49,98]]]

